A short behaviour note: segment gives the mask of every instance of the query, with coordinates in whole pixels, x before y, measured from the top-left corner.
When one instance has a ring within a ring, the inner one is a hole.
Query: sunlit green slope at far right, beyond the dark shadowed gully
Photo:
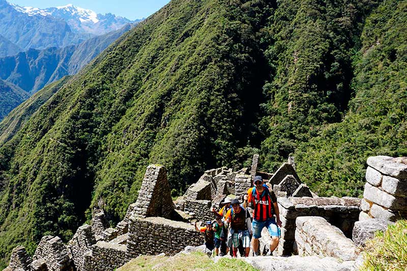
[[[407,155],[405,25],[407,1],[385,1],[367,18],[346,115],[296,149],[299,174],[315,192],[361,195],[367,157]]]

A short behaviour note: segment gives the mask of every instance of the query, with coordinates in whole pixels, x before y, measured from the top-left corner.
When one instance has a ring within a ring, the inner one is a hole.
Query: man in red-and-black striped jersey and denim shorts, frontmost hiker
[[[244,199],[252,204],[253,208],[253,238],[251,242],[254,256],[258,256],[258,238],[261,237],[261,230],[264,227],[268,229],[271,236],[270,252],[273,253],[278,246],[278,227],[281,227],[281,221],[274,191],[264,184],[261,176],[255,176],[253,184],[254,187],[247,191]]]

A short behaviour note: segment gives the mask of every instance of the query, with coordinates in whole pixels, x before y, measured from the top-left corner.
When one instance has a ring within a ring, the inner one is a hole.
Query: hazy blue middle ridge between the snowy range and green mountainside
[[[77,73],[112,42],[131,29],[128,24],[118,31],[93,37],[64,48],[30,49],[0,58],[0,79],[13,83],[28,93],[36,93],[46,84]]]

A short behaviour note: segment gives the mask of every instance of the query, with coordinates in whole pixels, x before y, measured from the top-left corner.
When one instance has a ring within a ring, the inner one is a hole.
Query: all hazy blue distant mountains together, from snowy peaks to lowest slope
[[[0,120],[30,94],[77,73],[139,21],[72,4],[38,9],[0,0]]]

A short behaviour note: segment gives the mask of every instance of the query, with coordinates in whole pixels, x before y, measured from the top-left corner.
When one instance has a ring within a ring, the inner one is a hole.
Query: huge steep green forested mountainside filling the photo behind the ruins
[[[149,163],[182,193],[294,154],[320,195],[358,196],[368,155],[407,155],[406,3],[172,0],[0,125],[25,116],[0,145],[0,256],[69,239],[96,205],[117,222]]]

